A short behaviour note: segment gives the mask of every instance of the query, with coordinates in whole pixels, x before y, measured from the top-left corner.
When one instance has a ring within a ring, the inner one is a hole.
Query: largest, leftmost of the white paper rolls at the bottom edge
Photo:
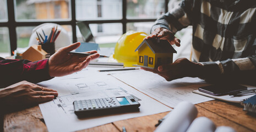
[[[197,108],[192,103],[181,102],[168,114],[155,132],[184,132],[197,117],[197,113]]]

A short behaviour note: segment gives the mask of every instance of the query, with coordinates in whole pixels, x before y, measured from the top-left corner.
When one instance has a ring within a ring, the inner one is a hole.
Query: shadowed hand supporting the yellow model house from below
[[[203,65],[190,62],[186,58],[179,58],[172,64],[160,65],[158,69],[141,68],[149,72],[159,74],[167,81],[189,77],[199,77],[201,75]]]

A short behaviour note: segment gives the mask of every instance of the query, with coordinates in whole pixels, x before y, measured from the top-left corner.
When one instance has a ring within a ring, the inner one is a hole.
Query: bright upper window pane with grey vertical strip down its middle
[[[122,0],[76,0],[77,20],[121,19]]]

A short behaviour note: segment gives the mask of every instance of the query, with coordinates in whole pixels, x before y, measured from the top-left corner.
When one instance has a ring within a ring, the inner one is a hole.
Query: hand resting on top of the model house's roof
[[[151,33],[151,35],[145,37],[144,39],[150,38],[160,38],[160,40],[167,40],[169,43],[171,43],[171,45],[176,45],[178,47],[181,46],[181,40],[175,37],[170,30],[164,29],[162,27],[158,27]]]

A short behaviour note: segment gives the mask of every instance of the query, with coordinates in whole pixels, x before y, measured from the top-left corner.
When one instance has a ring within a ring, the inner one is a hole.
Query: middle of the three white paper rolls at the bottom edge
[[[191,123],[187,132],[214,132],[215,129],[215,124],[209,118],[198,117]]]

